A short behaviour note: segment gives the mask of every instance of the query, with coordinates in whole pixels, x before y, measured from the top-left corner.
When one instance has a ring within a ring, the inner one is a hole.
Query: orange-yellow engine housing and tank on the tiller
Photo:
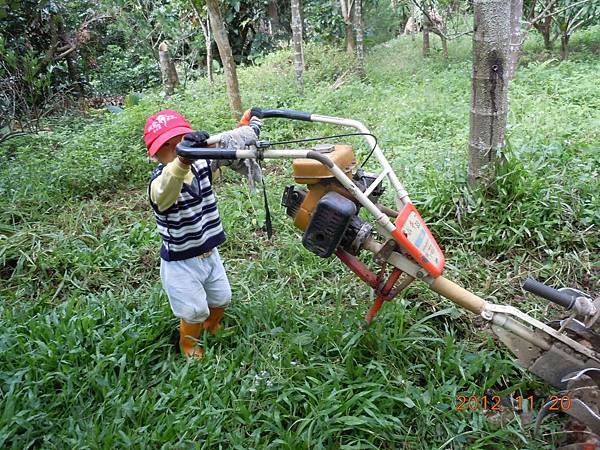
[[[356,167],[356,158],[351,146],[324,144],[315,150],[327,155],[336,166],[344,171],[348,178],[352,178],[352,171]],[[308,193],[294,217],[294,224],[301,230],[306,230],[317,202],[327,192],[335,191],[354,201],[346,188],[319,161],[308,158],[295,159],[292,168],[296,183],[306,184],[308,187]]]

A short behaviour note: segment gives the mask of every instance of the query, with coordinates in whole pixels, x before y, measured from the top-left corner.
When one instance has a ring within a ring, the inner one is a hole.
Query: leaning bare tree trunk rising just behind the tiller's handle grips
[[[208,7],[210,26],[213,30],[217,47],[219,48],[221,62],[223,63],[225,79],[227,80],[227,94],[229,95],[231,113],[235,119],[239,119],[242,115],[242,99],[240,97],[235,61],[233,60],[231,45],[229,45],[229,37],[225,31],[225,23],[221,15],[219,2],[218,0],[206,0],[206,6]]]

